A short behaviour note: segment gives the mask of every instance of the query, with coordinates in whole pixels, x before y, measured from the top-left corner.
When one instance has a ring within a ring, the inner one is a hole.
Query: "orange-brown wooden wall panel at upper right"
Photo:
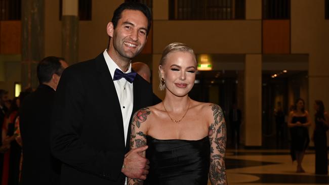
[[[263,54],[290,54],[290,20],[263,20]]]

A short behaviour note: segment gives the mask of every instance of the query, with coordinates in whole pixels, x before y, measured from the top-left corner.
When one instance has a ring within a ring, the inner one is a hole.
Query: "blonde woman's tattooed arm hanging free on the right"
[[[226,123],[222,108],[215,104],[211,106],[214,122],[209,127],[209,179],[212,185],[227,184],[225,168]]]

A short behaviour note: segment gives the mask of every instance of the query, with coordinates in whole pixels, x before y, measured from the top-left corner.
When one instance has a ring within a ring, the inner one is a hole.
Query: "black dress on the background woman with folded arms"
[[[302,124],[307,122],[306,116],[293,116],[292,123],[300,122]],[[292,160],[296,160],[296,152],[304,152],[309,143],[310,137],[308,134],[308,128],[304,126],[295,126],[290,128],[291,133],[291,157]]]

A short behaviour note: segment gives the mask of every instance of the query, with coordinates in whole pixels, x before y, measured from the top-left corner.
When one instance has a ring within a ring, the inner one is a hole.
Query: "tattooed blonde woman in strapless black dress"
[[[131,149],[148,146],[149,174],[144,184],[227,184],[226,123],[222,109],[188,97],[196,59],[183,43],[169,44],[159,65],[163,102],[137,111],[131,125]],[[145,156],[145,153],[141,154]],[[143,184],[128,178],[128,184]]]

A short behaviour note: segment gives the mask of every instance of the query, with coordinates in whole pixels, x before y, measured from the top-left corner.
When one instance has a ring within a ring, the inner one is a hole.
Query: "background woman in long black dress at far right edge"
[[[315,100],[314,115],[315,129],[313,141],[315,146],[315,174],[328,174],[328,151],[326,131],[329,128],[329,117],[324,111],[324,105],[321,100]]]

